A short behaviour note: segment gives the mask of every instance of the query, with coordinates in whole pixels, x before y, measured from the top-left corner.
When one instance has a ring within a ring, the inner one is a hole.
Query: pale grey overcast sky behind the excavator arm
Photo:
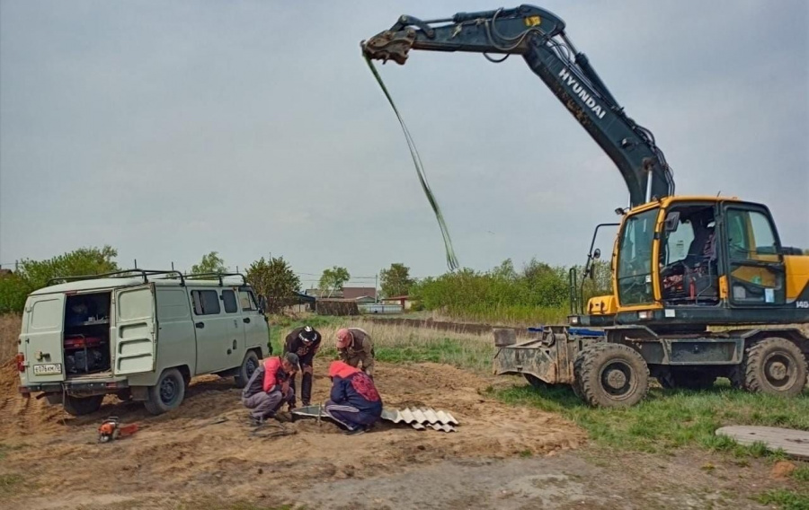
[[[111,244],[123,266],[219,251],[231,268],[272,253],[302,273],[440,274],[439,228],[359,43],[399,14],[499,6],[0,0],[0,263]],[[809,3],[542,7],[652,129],[678,193],[766,203],[782,242],[809,248]],[[626,205],[520,58],[415,51],[380,71],[462,265],[582,263]]]

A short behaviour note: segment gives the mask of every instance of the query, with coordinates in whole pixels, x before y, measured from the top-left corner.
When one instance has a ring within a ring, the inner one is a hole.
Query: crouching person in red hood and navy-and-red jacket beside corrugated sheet
[[[347,435],[362,434],[382,416],[382,399],[373,380],[342,361],[329,366],[332,392],[325,412],[345,426]]]

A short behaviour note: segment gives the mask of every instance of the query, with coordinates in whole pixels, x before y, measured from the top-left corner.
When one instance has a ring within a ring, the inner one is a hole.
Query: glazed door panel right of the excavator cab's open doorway
[[[728,202],[723,207],[725,277],[731,305],[786,303],[786,270],[769,209]]]

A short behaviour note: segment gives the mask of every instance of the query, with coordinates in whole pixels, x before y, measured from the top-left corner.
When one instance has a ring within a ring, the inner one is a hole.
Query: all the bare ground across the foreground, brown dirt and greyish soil
[[[316,366],[315,400],[328,389]],[[447,365],[378,365],[389,408],[451,411],[457,433],[382,424],[345,436],[305,420],[262,428],[246,422],[229,379],[195,379],[180,409],[151,417],[109,397],[70,418],[15,393],[0,369],[0,508],[760,508],[752,494],[777,483],[765,462],[739,465],[700,452],[676,457],[614,453],[585,444],[555,414],[504,406],[481,393],[511,384]],[[112,444],[96,427],[118,416],[141,429]],[[238,502],[243,506],[228,506]]]

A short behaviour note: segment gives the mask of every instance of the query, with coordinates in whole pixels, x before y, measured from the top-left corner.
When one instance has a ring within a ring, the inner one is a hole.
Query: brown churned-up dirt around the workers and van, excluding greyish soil
[[[315,401],[328,397],[325,365],[316,365]],[[28,473],[28,482],[40,488],[42,505],[57,494],[63,501],[91,495],[244,497],[257,490],[306,488],[311,477],[367,478],[447,458],[553,452],[584,438],[556,415],[506,407],[482,396],[492,380],[448,365],[378,364],[376,380],[387,408],[449,410],[461,422],[457,433],[383,422],[359,436],[342,435],[333,424],[315,420],[271,424],[253,433],[232,380],[216,376],[195,379],[182,407],[160,417],[148,416],[137,402],[110,397],[90,417],[65,418],[44,400],[24,403],[15,393],[13,365],[4,365],[2,374],[0,434],[6,444],[24,446],[8,453],[0,471]],[[97,444],[95,428],[110,415],[137,422],[140,430],[112,444]],[[74,462],[81,469],[64,469]],[[95,478],[91,488],[86,483],[93,472],[106,476]],[[30,500],[26,504],[37,506]]]

